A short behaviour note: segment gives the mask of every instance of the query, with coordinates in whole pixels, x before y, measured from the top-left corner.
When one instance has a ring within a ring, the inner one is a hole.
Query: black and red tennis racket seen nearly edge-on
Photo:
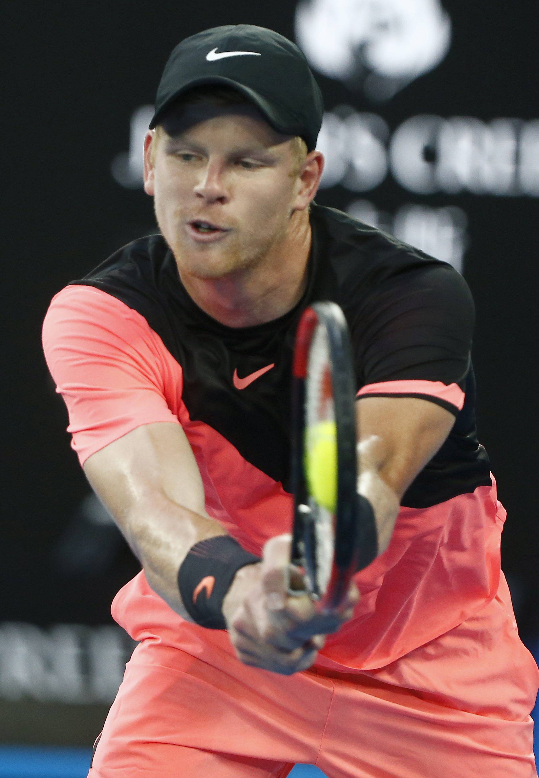
[[[317,610],[338,612],[359,554],[355,380],[348,328],[336,303],[314,303],[298,324],[291,478],[291,563],[304,573]]]

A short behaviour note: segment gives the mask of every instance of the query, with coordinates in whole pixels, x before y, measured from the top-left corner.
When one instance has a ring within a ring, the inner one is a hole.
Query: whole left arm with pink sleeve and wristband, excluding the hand
[[[150,585],[184,618],[220,626],[234,573],[259,558],[206,514],[196,459],[165,398],[180,402],[181,367],[140,314],[88,286],[55,296],[43,344],[72,447]],[[199,587],[208,567],[215,585]]]

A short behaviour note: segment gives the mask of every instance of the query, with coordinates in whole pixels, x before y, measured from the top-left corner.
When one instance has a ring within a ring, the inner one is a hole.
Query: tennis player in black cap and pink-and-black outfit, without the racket
[[[500,570],[466,283],[314,202],[305,56],[238,25],[183,40],[144,142],[160,234],[66,286],[44,350],[72,447],[142,571],[138,641],[91,778],[536,776],[539,674]],[[351,331],[372,562],[340,616],[287,596],[302,310]]]

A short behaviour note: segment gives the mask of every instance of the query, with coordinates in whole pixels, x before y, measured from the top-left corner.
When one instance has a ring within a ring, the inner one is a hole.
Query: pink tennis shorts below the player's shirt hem
[[[375,671],[291,677],[143,640],[89,778],[534,778],[539,672],[499,595]]]

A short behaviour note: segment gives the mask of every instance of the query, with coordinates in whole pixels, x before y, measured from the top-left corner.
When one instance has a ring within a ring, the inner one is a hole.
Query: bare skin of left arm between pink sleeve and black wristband
[[[193,545],[226,533],[206,513],[202,478],[181,426],[139,426],[92,454],[83,469],[150,587],[192,620],[181,601],[178,569]]]

